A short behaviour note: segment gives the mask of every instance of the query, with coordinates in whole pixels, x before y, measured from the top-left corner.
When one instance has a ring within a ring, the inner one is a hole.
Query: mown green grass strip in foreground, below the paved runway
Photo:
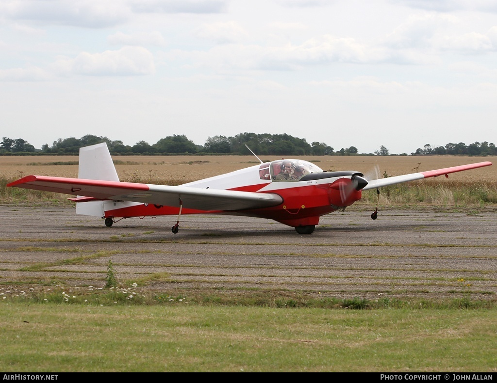
[[[3,373],[497,368],[495,309],[1,306]]]

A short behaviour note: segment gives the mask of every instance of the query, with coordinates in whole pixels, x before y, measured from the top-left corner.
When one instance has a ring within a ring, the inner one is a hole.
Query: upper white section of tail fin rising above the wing
[[[78,178],[119,181],[106,143],[80,148]]]

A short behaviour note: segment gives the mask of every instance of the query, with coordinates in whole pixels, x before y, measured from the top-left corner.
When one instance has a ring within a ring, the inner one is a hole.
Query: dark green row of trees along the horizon
[[[133,146],[124,145],[122,141],[109,140],[107,137],[86,135],[79,139],[69,137],[54,141],[52,146],[45,144],[40,149],[35,149],[31,144],[23,139],[11,139],[3,137],[0,143],[0,155],[7,154],[77,154],[84,146],[106,142],[111,153],[114,154],[250,154],[247,146],[257,155],[354,155],[357,148],[351,146],[347,149],[334,151],[324,142],[313,142],[309,144],[304,138],[297,138],[288,134],[256,134],[240,133],[234,137],[212,136],[205,144],[196,145],[185,135],[173,135],[160,139],[157,143],[150,145],[145,141],[140,141]],[[373,153],[362,153],[370,154]],[[383,145],[375,151],[376,155],[392,155]],[[464,143],[449,143],[445,146],[432,148],[426,144],[423,149],[418,148],[411,155],[434,155],[434,154],[455,154],[455,155],[497,155],[496,146],[493,143],[484,141],[475,142],[470,145]],[[407,155],[402,153],[400,155]]]

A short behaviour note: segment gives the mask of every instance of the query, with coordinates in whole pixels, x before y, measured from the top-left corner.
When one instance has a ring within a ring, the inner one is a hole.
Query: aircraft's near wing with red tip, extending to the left
[[[274,193],[200,189],[119,181],[28,175],[7,186],[89,197],[75,201],[115,200],[174,206],[203,211],[259,209],[279,205],[283,199]]]

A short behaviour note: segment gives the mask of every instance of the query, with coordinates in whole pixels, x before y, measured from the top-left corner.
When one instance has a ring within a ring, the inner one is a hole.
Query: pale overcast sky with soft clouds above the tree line
[[[495,0],[2,0],[0,137],[497,144]]]

